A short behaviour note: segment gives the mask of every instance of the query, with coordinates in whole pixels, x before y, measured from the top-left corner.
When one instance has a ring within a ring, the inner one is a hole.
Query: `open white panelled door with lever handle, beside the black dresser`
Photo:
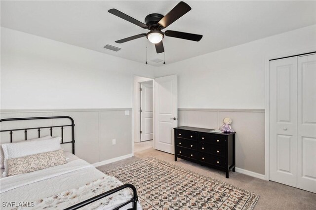
[[[174,154],[174,130],[178,126],[178,76],[155,79],[155,147]]]

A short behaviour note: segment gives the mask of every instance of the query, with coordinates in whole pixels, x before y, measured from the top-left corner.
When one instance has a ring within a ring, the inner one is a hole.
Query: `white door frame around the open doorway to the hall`
[[[134,155],[134,143],[140,142],[139,140],[139,129],[140,129],[140,119],[139,119],[139,104],[140,104],[140,96],[139,96],[139,87],[140,83],[146,81],[153,81],[153,111],[155,113],[155,79],[150,77],[143,77],[134,75],[133,78],[133,105],[132,105],[132,153]],[[153,114],[153,147],[155,149],[155,114]]]

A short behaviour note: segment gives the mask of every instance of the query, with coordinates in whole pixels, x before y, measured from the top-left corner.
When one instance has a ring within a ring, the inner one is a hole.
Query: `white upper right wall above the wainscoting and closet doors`
[[[166,65],[155,75],[178,74],[180,108],[261,109],[265,58],[312,47],[315,25]]]

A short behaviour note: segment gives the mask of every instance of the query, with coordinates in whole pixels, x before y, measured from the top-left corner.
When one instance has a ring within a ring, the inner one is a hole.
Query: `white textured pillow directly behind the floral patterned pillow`
[[[2,149],[4,154],[4,172],[2,176],[6,176],[8,172],[8,159],[24,157],[44,152],[60,150],[60,137],[48,140],[26,140],[23,142],[3,143]]]

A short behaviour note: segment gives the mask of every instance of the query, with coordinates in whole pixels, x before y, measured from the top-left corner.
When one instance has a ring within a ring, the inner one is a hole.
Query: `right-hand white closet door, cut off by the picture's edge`
[[[298,57],[297,187],[316,193],[316,55]]]

